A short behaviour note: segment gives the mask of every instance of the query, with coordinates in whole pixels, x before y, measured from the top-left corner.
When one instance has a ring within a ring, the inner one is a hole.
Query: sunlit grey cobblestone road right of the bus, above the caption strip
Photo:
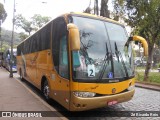
[[[136,88],[133,99],[112,107],[121,111],[160,111],[160,92]]]

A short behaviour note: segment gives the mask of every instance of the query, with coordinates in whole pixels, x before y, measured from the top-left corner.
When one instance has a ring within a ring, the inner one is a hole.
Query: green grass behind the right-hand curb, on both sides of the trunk
[[[137,80],[143,82],[144,72],[137,72]],[[159,72],[150,72],[148,82],[160,84],[160,73]]]

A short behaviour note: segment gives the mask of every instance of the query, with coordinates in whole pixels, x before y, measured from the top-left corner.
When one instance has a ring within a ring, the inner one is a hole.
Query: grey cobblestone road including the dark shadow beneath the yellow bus
[[[39,93],[39,91],[37,89],[35,89],[34,87],[32,87],[30,84],[28,84],[26,82],[23,82],[23,84],[28,86],[29,89],[34,91],[37,95],[42,97],[41,94]],[[104,107],[104,108],[100,108],[100,109],[96,109],[96,110],[91,110],[85,114],[85,116],[89,116],[90,118],[83,117],[83,119],[160,120],[160,117],[130,117],[130,118],[128,118],[128,117],[106,117],[105,116],[105,114],[108,111],[115,111],[115,112],[116,111],[153,111],[153,112],[160,111],[160,102],[159,101],[160,101],[160,92],[136,87],[135,95],[131,101],[125,102],[125,103],[120,103],[120,104],[110,106],[110,107]],[[61,110],[65,111],[65,109],[62,106],[60,106],[59,104],[57,104],[54,101],[51,106],[54,107],[55,109],[57,109],[58,111],[61,111]],[[61,114],[63,114],[64,116],[67,117],[67,116],[70,116],[71,114],[74,114],[74,113],[70,113],[70,112],[63,113],[62,112]],[[81,116],[82,114],[84,114],[84,112],[76,113],[77,116]],[[77,119],[82,119],[82,118],[81,117],[79,117],[79,118],[68,117],[68,119],[76,119],[77,120]]]

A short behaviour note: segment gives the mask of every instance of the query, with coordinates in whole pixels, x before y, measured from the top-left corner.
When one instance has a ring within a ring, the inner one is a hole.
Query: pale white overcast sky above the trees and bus
[[[14,0],[0,0],[0,2],[4,4],[7,12],[7,18],[2,27],[12,30]],[[83,12],[89,2],[90,0],[15,0],[15,15],[22,14],[27,19],[33,17],[34,14],[55,18],[64,13]]]

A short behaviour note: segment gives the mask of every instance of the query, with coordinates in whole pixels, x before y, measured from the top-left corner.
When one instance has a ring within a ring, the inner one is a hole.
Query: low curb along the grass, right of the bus
[[[151,83],[143,83],[143,82],[136,81],[135,86],[140,87],[140,88],[160,91],[160,85],[154,85],[154,84],[151,84]]]

